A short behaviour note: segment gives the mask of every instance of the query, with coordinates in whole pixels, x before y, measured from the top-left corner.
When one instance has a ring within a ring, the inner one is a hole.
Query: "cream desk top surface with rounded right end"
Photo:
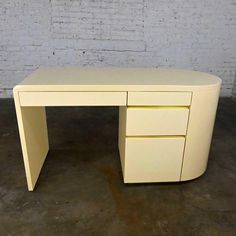
[[[17,91],[154,91],[220,86],[217,76],[177,69],[40,68],[24,79]]]

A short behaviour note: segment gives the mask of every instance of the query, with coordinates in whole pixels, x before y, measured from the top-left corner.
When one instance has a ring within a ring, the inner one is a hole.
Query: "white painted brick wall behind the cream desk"
[[[69,65],[200,70],[236,97],[236,0],[0,0],[0,97]]]

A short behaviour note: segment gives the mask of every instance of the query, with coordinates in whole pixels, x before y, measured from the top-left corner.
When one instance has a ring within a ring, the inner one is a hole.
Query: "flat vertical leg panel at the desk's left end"
[[[14,92],[28,190],[33,191],[49,150],[45,107],[21,107]]]

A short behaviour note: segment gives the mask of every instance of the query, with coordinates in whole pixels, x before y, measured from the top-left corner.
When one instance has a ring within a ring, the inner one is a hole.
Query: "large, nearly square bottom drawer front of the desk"
[[[184,137],[126,138],[124,182],[179,181]]]

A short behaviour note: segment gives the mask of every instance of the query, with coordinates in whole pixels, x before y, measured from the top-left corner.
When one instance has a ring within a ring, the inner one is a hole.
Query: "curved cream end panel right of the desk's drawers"
[[[220,85],[193,92],[181,181],[197,178],[207,168],[219,91]]]

